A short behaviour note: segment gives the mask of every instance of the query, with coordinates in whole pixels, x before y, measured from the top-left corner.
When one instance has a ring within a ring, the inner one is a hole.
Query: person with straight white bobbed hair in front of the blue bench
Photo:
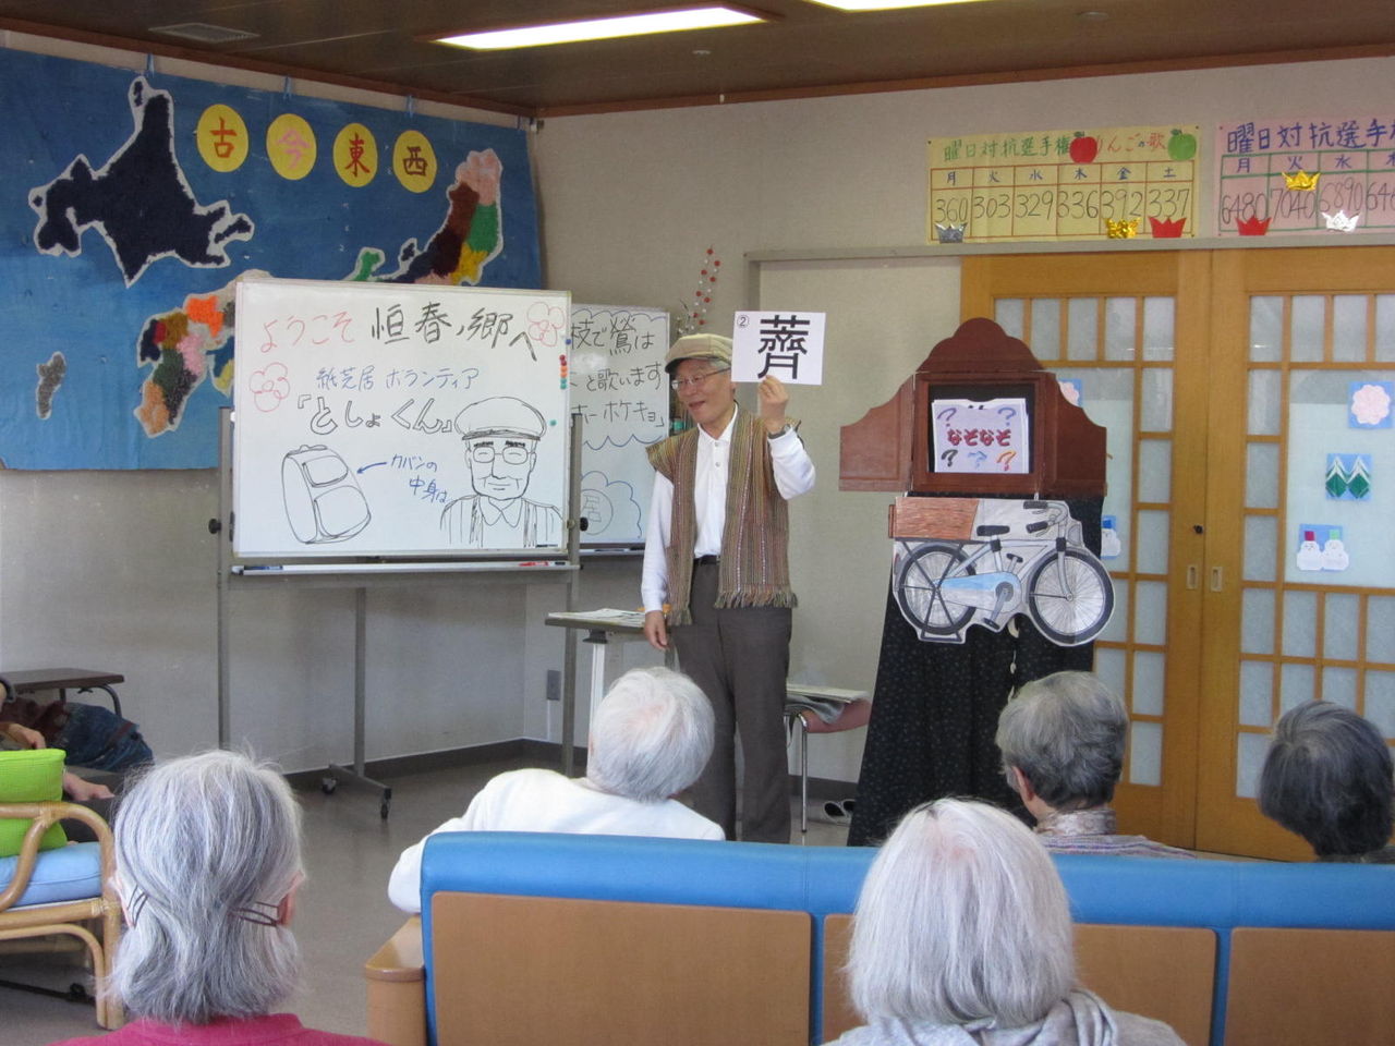
[[[908,813],[862,884],[847,967],[866,1021],[836,1046],[1180,1046],[1076,985],[1066,888],[995,806]]]

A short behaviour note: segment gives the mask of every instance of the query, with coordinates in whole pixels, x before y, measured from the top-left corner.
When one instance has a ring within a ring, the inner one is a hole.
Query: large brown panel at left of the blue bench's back
[[[437,1042],[809,1042],[809,915],[437,894]]]

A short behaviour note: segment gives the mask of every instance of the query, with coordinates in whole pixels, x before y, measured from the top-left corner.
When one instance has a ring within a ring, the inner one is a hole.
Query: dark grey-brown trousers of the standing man
[[[693,563],[693,621],[672,632],[678,667],[707,695],[716,734],[707,768],[692,787],[693,806],[737,838],[737,756],[745,763],[741,838],[790,841],[785,756],[785,676],[791,612],[784,607],[716,609],[716,563]]]

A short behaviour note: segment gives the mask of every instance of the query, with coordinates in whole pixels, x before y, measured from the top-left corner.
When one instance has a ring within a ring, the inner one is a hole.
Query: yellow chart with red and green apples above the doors
[[[929,142],[929,243],[1196,236],[1196,124]]]

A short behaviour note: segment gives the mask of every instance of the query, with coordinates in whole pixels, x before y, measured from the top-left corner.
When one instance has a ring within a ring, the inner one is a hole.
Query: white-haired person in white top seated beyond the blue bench
[[[720,840],[721,826],[677,796],[711,756],[711,703],[686,675],[636,668],[617,679],[591,713],[586,777],[552,770],[511,770],[474,796],[463,817],[439,831],[565,831],[590,835],[660,835]],[[427,837],[430,838],[430,835]],[[425,840],[398,858],[389,900],[421,911]]]

